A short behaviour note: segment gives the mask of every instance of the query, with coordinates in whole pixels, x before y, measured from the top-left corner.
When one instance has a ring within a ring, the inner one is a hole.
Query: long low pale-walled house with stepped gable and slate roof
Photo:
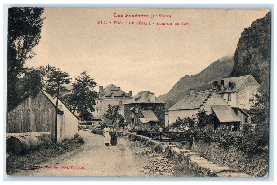
[[[168,109],[169,124],[174,123],[178,117],[183,118],[195,116],[202,109],[207,111],[207,114],[210,114],[212,113],[211,105],[230,106],[228,101],[214,89],[197,93],[193,93],[193,89],[191,89],[190,94],[186,95]]]

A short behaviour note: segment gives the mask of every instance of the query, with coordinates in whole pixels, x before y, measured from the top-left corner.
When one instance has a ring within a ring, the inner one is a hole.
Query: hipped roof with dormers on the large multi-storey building
[[[110,96],[111,93],[114,93],[114,97],[122,97],[122,94],[125,94],[125,98],[132,98],[129,93],[125,93],[119,87],[116,87],[113,84],[108,85],[106,88],[103,89],[102,92],[99,92],[100,98],[112,98]]]

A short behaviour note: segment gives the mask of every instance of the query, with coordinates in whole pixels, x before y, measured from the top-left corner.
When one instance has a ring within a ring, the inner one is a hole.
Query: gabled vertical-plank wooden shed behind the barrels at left
[[[6,133],[51,132],[51,140],[55,141],[55,117],[55,100],[40,89],[34,99],[28,97],[9,111]],[[57,142],[63,141],[64,137],[64,111],[58,107]]]

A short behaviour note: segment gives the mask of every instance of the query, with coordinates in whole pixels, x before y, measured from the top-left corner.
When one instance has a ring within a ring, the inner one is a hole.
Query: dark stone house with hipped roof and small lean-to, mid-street
[[[154,93],[142,91],[124,103],[127,125],[138,126],[142,130],[165,127],[165,102]]]

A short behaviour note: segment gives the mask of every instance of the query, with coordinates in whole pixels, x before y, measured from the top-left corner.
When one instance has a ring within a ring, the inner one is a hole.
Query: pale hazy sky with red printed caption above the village
[[[126,93],[133,91],[133,96],[149,90],[158,97],[181,77],[198,74],[222,56],[233,55],[243,29],[267,12],[45,8],[36,55],[25,66],[55,66],[68,72],[72,82],[87,70],[98,86],[114,84]]]

